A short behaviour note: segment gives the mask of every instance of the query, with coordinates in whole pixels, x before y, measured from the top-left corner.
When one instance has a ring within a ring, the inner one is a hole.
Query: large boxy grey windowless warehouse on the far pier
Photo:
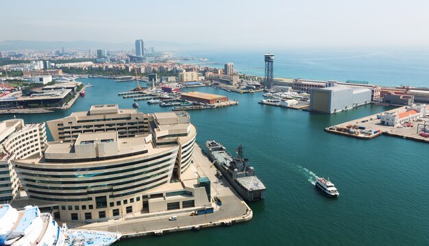
[[[371,102],[371,90],[333,86],[310,90],[310,110],[332,114]]]

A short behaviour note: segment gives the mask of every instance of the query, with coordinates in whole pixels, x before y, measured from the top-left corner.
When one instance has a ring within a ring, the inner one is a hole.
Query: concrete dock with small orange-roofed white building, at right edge
[[[393,110],[388,110],[385,112],[404,112],[405,106],[400,108],[395,108]],[[429,143],[429,138],[421,136],[419,133],[418,125],[423,125],[419,122],[411,122],[408,126],[400,125],[400,127],[393,127],[389,125],[382,125],[380,123],[380,116],[384,112],[378,114],[371,114],[369,116],[362,117],[360,119],[355,119],[353,121],[347,121],[338,125],[332,125],[326,127],[325,132],[332,134],[349,136],[352,138],[360,139],[372,139],[380,135],[395,136],[398,138],[405,138],[409,140],[415,140],[419,142]]]

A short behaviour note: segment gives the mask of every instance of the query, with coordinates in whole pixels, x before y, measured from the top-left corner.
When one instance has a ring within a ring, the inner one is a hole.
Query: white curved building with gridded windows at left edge
[[[41,156],[46,141],[45,123],[25,124],[22,119],[0,123],[0,203],[19,196],[19,179],[11,160]]]

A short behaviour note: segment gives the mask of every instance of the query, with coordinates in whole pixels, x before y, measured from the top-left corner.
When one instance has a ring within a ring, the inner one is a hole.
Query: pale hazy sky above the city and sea
[[[428,47],[428,0],[2,1],[0,40]]]

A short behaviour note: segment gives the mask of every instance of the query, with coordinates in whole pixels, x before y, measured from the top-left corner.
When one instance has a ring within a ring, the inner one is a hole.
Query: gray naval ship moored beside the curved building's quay
[[[206,142],[208,157],[221,171],[238,194],[247,201],[258,201],[265,197],[265,185],[256,177],[255,169],[249,166],[249,160],[243,158],[243,147],[238,146],[233,158],[225,147],[215,140]]]

